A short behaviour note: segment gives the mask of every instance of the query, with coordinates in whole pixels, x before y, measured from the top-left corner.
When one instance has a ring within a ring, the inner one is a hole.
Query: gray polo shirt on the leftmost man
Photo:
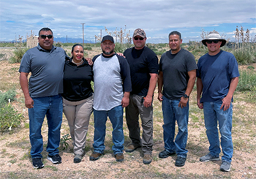
[[[63,93],[63,69],[67,54],[61,47],[44,50],[39,45],[29,49],[21,59],[19,72],[29,73],[31,97]]]

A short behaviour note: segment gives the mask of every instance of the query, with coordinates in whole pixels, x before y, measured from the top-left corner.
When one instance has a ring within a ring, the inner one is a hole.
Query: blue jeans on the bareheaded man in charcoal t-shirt
[[[189,102],[187,107],[178,107],[180,100],[170,100],[163,96],[162,115],[164,118],[165,149],[170,153],[176,151],[177,156],[187,157],[187,124],[189,121]],[[174,141],[176,121],[178,134]]]

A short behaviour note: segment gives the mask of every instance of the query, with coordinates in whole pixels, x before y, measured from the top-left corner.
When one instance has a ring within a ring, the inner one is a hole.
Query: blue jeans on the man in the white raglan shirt
[[[123,153],[124,132],[123,132],[123,107],[113,107],[111,110],[94,110],[94,152],[103,153],[105,150],[106,122],[110,118],[113,132],[112,146],[113,153]]]

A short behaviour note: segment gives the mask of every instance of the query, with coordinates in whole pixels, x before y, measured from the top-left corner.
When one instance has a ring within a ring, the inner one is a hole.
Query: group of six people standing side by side
[[[59,156],[62,112],[69,123],[75,153],[74,162],[84,155],[89,119],[94,113],[94,151],[90,161],[99,159],[105,150],[106,121],[113,126],[113,154],[124,161],[127,153],[142,148],[143,164],[150,164],[153,151],[153,97],[158,83],[158,99],[162,102],[165,149],[159,158],[177,155],[175,165],[182,167],[187,159],[189,95],[197,78],[197,105],[203,109],[209,153],[200,161],[219,160],[219,131],[222,135],[220,170],[230,171],[233,156],[232,102],[238,84],[236,58],[220,47],[225,45],[217,31],[212,31],[203,45],[208,53],[196,64],[192,53],[181,48],[181,33],[169,34],[170,50],[157,55],[146,47],[146,33],[137,28],[132,36],[134,47],[123,54],[115,53],[113,37],[102,38],[102,53],[84,58],[83,46],[72,47],[69,58],[61,47],[53,46],[53,31],[39,31],[37,47],[28,50],[20,63],[20,86],[29,108],[29,137],[34,168],[42,168],[41,128],[48,119],[48,160],[61,163]],[[28,76],[31,72],[31,77]],[[91,87],[94,81],[94,90]],[[123,113],[132,143],[124,149]],[[140,137],[141,119],[142,136]],[[176,121],[178,134],[175,137]]]

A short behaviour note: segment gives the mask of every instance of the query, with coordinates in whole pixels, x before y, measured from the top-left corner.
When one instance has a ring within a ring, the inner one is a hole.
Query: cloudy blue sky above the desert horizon
[[[237,26],[255,38],[255,0],[0,0],[0,41],[26,39],[43,27],[54,37],[83,39],[84,27],[84,39],[95,42],[106,27],[130,37],[143,28],[148,43],[167,43],[171,31],[181,32],[183,42],[199,42],[213,30],[235,42]]]

